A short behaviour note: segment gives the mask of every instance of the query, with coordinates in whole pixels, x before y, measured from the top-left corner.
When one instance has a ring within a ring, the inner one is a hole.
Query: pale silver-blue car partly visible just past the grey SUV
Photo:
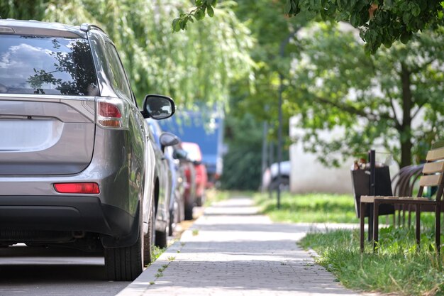
[[[177,197],[174,195],[177,185],[176,168],[172,163],[172,155],[165,153],[168,146],[177,145],[179,138],[172,133],[163,133],[157,121],[146,119],[150,126],[150,137],[154,140],[155,146],[155,180],[159,183],[159,192],[156,205],[155,219],[155,243],[160,248],[167,246],[167,236],[172,235],[174,226],[174,203]],[[177,210],[177,209],[176,209]]]

